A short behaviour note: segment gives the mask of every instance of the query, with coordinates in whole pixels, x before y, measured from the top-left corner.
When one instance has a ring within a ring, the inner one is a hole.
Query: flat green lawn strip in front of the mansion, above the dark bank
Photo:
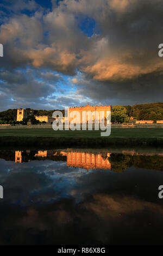
[[[100,131],[54,131],[43,129],[0,129],[0,136],[25,137],[101,137]],[[162,128],[120,128],[112,129],[110,138],[163,138]]]

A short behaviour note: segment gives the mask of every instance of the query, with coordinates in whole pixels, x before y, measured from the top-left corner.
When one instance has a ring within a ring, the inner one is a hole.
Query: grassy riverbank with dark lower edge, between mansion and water
[[[112,129],[109,137],[101,137],[101,131],[54,131],[47,129],[1,129],[1,147],[56,147],[106,145],[163,145],[162,128]]]

